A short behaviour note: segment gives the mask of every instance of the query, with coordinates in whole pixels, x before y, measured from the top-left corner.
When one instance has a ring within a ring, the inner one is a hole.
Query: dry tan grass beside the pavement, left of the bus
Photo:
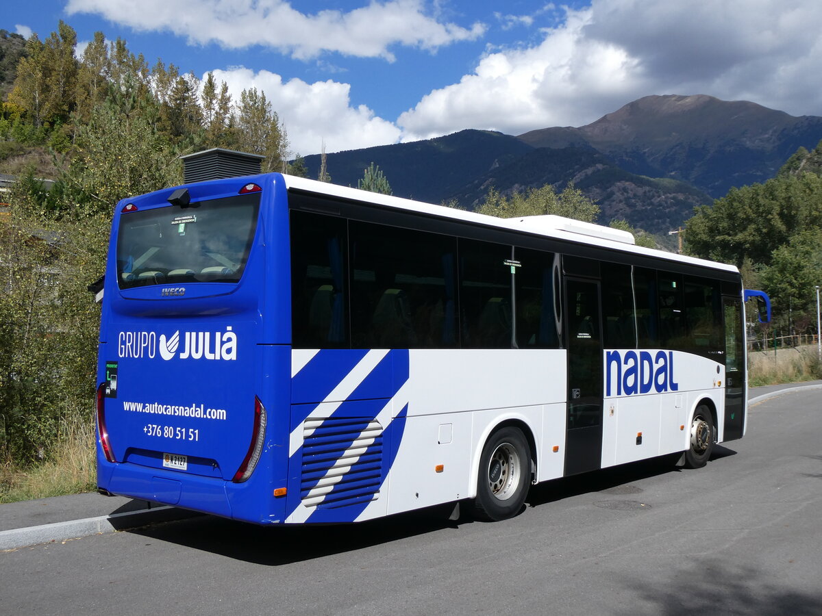
[[[65,421],[44,462],[21,468],[0,462],[0,503],[94,490],[97,483],[93,423]]]

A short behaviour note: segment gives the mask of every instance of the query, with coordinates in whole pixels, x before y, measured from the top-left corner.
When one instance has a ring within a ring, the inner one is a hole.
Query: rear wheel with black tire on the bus
[[[511,426],[496,430],[479,457],[474,517],[492,522],[520,513],[530,480],[531,449],[522,430]]]

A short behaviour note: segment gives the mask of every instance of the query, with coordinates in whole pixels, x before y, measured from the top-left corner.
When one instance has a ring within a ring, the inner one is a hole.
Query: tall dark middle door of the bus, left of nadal
[[[598,282],[566,278],[566,332],[567,476],[602,466],[603,340]]]

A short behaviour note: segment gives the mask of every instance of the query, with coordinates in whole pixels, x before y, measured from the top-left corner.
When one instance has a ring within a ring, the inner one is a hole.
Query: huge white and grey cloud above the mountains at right
[[[489,51],[398,123],[405,140],[464,128],[520,134],[582,126],[648,94],[822,114],[820,31],[818,0],[593,0],[537,45]]]

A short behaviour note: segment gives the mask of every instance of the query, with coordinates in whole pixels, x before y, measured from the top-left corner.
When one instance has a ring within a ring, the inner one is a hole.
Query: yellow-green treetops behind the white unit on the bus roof
[[[476,211],[499,218],[554,214],[593,223],[599,214],[599,206],[569,183],[560,195],[556,194],[550,184],[541,188],[528,188],[524,192],[515,191],[510,198],[491,188],[485,202]]]

